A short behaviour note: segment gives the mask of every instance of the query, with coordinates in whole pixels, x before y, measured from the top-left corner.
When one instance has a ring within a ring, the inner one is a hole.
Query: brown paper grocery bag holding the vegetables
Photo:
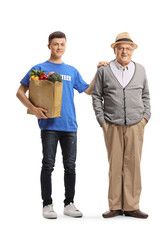
[[[62,87],[62,82],[31,79],[29,100],[34,106],[48,110],[48,118],[61,117]],[[29,109],[27,113],[33,114]]]

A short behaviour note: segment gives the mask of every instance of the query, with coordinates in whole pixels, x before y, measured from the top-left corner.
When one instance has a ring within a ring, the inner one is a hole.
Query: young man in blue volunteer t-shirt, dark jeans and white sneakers
[[[47,109],[34,106],[26,96],[29,88],[30,71],[21,80],[17,91],[19,100],[30,109],[38,118],[41,129],[43,160],[41,169],[41,193],[43,199],[43,216],[57,218],[52,205],[51,174],[54,169],[57,144],[60,143],[64,164],[65,200],[64,214],[72,217],[82,217],[82,212],[76,209],[75,194],[75,162],[77,151],[77,122],[74,106],[74,89],[79,93],[91,94],[93,80],[88,85],[79,72],[72,66],[62,62],[66,49],[66,36],[62,32],[49,35],[48,48],[51,55],[48,61],[38,64],[30,69],[44,70],[46,73],[58,72],[63,78],[63,95],[61,117],[47,118]]]

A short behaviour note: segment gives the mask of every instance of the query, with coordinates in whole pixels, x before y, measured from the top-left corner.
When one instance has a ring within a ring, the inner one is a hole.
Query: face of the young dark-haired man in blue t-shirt
[[[65,38],[53,38],[51,43],[48,44],[48,48],[51,50],[51,54],[54,58],[61,58],[66,49]]]

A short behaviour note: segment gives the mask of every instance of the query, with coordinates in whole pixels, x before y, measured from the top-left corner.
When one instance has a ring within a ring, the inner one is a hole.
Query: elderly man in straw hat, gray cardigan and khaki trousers
[[[111,47],[116,59],[98,69],[92,92],[110,166],[110,210],[102,216],[147,218],[139,210],[143,135],[151,115],[146,73],[142,65],[131,60],[138,46],[129,33],[120,33]]]

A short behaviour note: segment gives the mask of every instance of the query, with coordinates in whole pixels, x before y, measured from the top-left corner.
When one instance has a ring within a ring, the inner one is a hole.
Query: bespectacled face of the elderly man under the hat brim
[[[134,48],[132,44],[118,44],[114,48],[117,61],[122,65],[126,66],[131,61]]]

